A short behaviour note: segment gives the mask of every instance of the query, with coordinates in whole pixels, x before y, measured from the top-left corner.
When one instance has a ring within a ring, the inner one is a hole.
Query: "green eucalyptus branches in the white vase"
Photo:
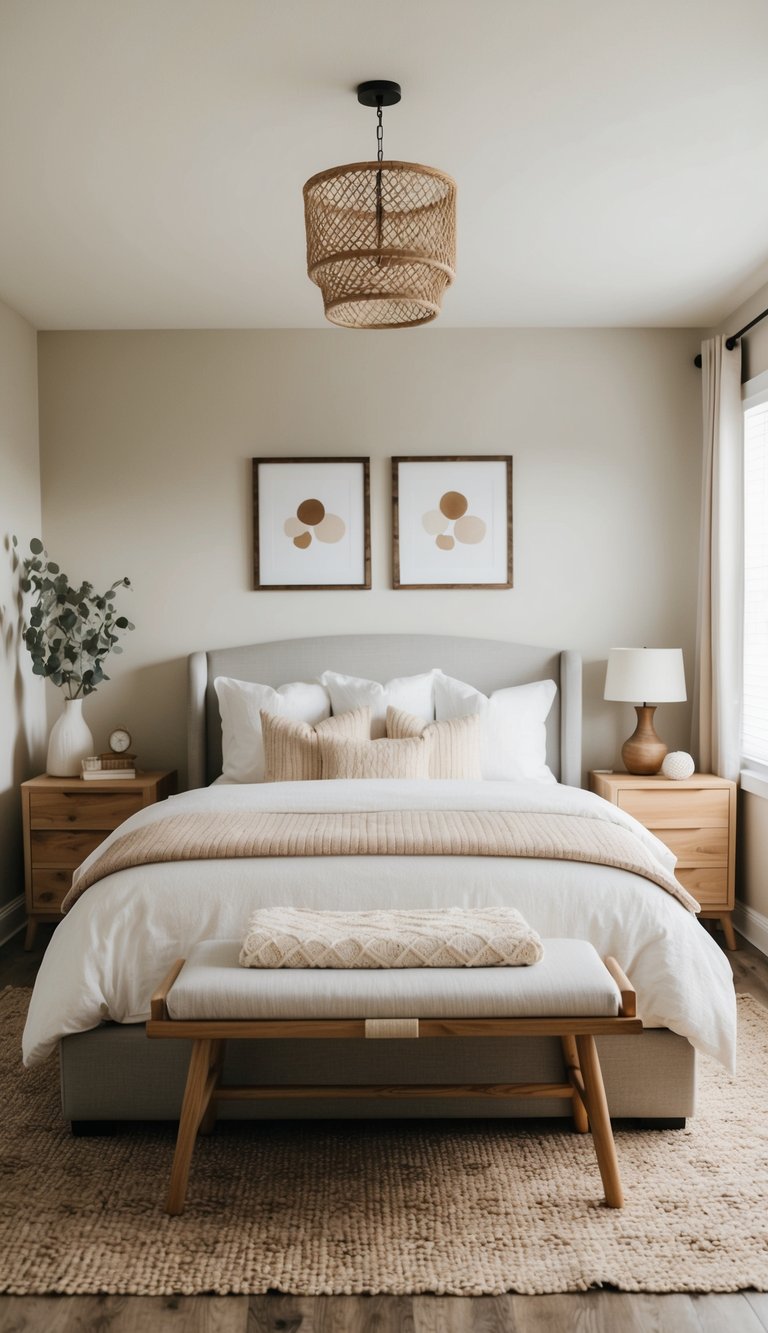
[[[19,545],[16,537],[13,545]],[[23,565],[21,589],[33,593],[24,631],[33,673],[65,689],[68,698],[92,694],[109,680],[104,659],[123,652],[120,633],[136,628],[127,616],[117,616],[115,607],[117,589],[131,588],[131,580],[117,579],[104,593],[89,583],[75,588],[37,537],[29,543]]]

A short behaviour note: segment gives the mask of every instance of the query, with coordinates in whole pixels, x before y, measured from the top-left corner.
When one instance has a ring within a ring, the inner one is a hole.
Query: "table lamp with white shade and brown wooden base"
[[[635,704],[637,726],[621,746],[627,772],[657,773],[667,746],[653,729],[653,713],[656,704],[675,704],[687,697],[683,649],[612,648],[603,697]]]

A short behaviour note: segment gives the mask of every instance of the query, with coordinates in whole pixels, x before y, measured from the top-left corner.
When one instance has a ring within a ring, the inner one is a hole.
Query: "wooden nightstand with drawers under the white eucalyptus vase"
[[[21,782],[24,892],[31,949],[39,921],[60,921],[72,872],[123,820],[176,790],[176,773],[84,782],[80,777],[32,777]]]

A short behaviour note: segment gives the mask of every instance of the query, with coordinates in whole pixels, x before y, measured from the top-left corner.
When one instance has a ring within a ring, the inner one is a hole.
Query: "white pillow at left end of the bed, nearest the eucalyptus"
[[[261,709],[312,726],[331,717],[331,697],[317,682],[293,681],[272,689],[271,685],[216,676],[213,689],[221,714],[221,776],[225,782],[264,781]]]

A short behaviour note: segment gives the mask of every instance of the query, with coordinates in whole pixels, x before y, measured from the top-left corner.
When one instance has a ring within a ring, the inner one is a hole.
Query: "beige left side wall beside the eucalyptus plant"
[[[0,940],[19,924],[23,892],[19,782],[43,765],[43,684],[20,640],[19,571],[11,537],[40,535],[37,349],[35,329],[0,303]]]

